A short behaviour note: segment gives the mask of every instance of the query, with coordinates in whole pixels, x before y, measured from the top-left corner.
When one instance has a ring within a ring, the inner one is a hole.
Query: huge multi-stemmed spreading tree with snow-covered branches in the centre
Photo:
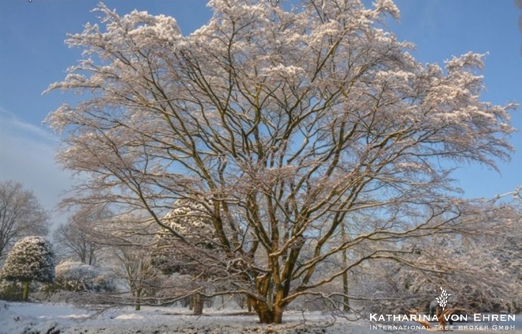
[[[100,5],[103,28],[68,36],[84,58],[49,91],[82,98],[47,120],[63,132],[60,161],[84,176],[69,203],[89,191],[186,242],[162,217],[198,202],[219,251],[246,266],[226,289],[263,323],[369,261],[407,263],[398,242],[472,232],[482,208],[455,196],[453,163],[495,168],[514,130],[514,105],[481,101],[483,55],[419,63],[378,26],[398,18],[391,0],[209,6],[190,35]]]

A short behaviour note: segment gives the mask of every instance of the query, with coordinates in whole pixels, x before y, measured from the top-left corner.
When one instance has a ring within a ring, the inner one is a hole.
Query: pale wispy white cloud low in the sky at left
[[[56,144],[51,131],[0,107],[0,180],[15,180],[32,189],[42,205],[53,211],[55,224],[65,220],[55,208],[71,185],[69,174],[55,163]]]

